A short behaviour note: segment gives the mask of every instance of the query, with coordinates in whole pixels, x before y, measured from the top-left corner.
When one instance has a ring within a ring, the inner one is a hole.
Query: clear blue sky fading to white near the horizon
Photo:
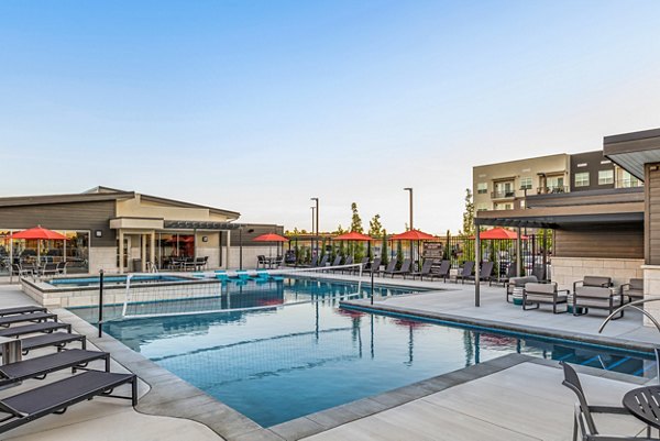
[[[660,1],[0,1],[0,197],[461,228],[472,166],[660,126]]]

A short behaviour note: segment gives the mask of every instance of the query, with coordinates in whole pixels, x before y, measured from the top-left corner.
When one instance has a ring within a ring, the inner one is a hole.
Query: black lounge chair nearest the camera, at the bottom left
[[[116,387],[131,384],[131,396],[111,395]],[[98,396],[130,399],[138,404],[138,377],[134,374],[114,374],[88,371],[22,394],[0,400],[0,433],[51,414],[64,414],[69,406]]]

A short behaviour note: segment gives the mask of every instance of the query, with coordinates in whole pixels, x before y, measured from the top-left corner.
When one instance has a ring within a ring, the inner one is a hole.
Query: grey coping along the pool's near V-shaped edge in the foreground
[[[70,323],[76,332],[87,335],[88,341],[100,350],[110,352],[114,361],[150,385],[150,390],[140,398],[135,410],[147,415],[186,418],[200,422],[227,441],[299,440],[405,405],[450,387],[485,377],[521,363],[560,367],[557,361],[538,359],[525,354],[507,354],[264,428],[243,414],[158,366],[144,355],[131,350],[113,337],[103,333],[99,338],[98,329],[75,313],[66,309],[58,309],[56,312],[63,321]],[[645,384],[647,382],[646,378],[627,374],[588,366],[575,367],[578,372],[609,379],[632,384]]]

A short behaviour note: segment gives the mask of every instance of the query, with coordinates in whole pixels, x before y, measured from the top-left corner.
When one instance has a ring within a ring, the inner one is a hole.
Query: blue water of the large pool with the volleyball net
[[[340,309],[338,293],[355,289],[344,283],[287,278],[274,285],[271,295],[262,287],[242,302],[232,288],[229,304],[284,304],[287,296],[318,301],[118,320],[105,330],[264,427],[516,352],[635,375],[654,367],[639,354]],[[96,318],[94,308],[73,311]]]

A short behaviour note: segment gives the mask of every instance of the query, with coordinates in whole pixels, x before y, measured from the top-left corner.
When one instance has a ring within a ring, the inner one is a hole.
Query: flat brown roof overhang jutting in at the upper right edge
[[[660,163],[660,129],[605,136],[603,155],[644,180],[644,165]]]

